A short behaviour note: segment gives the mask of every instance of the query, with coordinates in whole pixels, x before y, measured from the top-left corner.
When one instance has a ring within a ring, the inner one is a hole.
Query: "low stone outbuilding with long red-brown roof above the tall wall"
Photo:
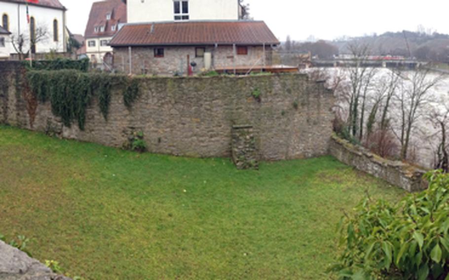
[[[278,44],[262,21],[134,23],[125,25],[110,42],[114,68],[134,74],[267,66]]]

